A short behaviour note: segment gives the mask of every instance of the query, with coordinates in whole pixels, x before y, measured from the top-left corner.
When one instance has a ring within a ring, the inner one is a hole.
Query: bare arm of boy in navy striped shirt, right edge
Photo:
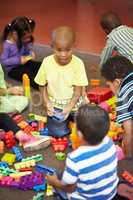
[[[126,157],[133,156],[133,120],[126,120],[123,122],[123,127],[125,130],[123,139],[123,148]]]

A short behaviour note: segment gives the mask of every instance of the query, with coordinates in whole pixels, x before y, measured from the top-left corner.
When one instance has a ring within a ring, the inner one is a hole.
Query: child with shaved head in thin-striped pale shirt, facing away
[[[102,29],[108,34],[106,46],[101,54],[100,66],[112,56],[114,51],[133,63],[133,28],[122,25],[121,19],[114,12],[105,13],[100,23]]]

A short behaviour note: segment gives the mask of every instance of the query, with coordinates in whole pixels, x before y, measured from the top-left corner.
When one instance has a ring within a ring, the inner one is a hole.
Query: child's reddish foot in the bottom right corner
[[[127,197],[129,200],[133,200],[133,187],[130,187],[124,183],[119,184],[118,194]]]

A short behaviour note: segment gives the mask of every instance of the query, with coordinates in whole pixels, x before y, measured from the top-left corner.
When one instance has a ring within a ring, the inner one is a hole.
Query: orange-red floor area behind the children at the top
[[[117,12],[123,24],[133,25],[132,0],[6,0],[0,6],[0,30],[16,16],[29,16],[37,23],[35,41],[50,44],[52,30],[68,25],[76,31],[77,49],[99,54],[105,43],[99,19],[108,10]]]

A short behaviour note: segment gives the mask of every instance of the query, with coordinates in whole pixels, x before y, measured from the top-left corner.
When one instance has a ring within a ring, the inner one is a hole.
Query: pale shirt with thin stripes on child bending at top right
[[[122,25],[108,34],[106,46],[101,54],[100,66],[112,56],[113,50],[133,63],[133,28]]]

